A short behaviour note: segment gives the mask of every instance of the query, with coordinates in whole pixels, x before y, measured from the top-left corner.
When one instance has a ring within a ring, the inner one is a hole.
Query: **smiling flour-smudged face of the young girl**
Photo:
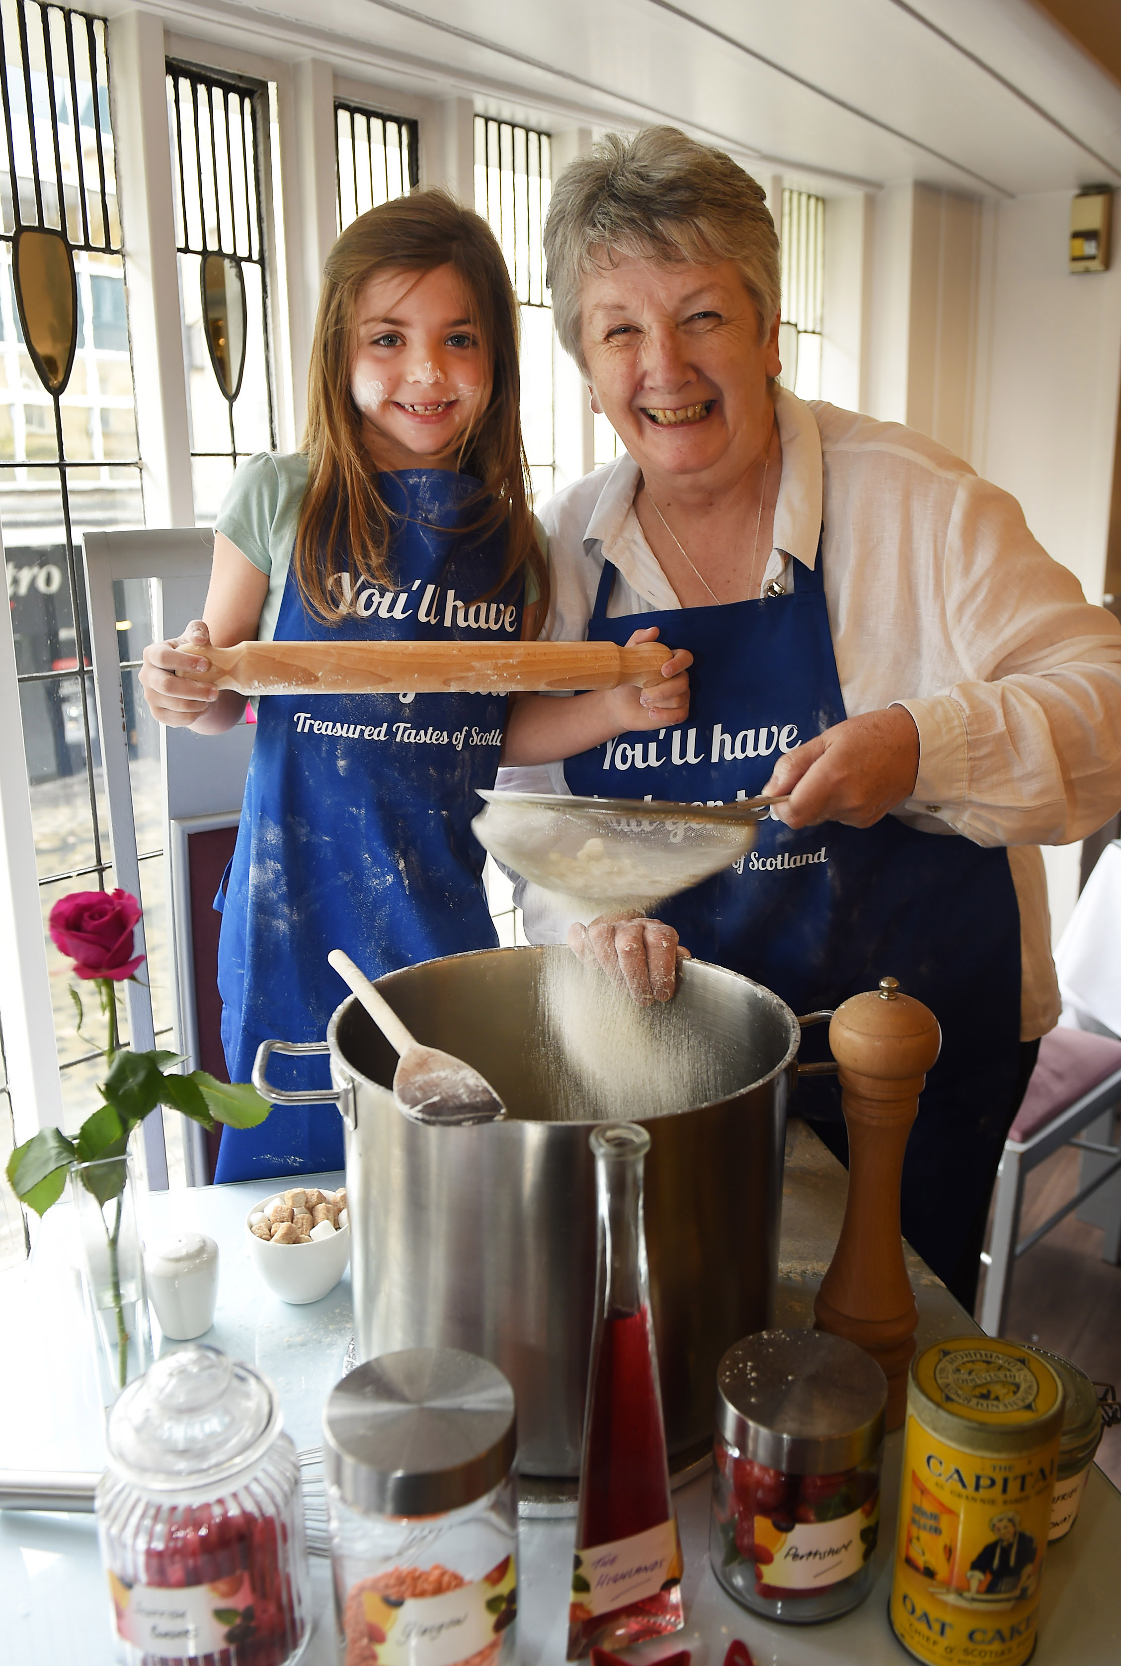
[[[355,303],[350,392],[381,470],[456,468],[491,395],[490,357],[453,267],[383,270]]]

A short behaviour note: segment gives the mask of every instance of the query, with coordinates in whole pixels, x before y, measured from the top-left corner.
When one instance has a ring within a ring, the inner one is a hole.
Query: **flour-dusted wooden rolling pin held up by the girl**
[[[240,695],[461,695],[648,688],[673,648],[643,641],[242,641],[187,645],[210,661],[200,683]]]

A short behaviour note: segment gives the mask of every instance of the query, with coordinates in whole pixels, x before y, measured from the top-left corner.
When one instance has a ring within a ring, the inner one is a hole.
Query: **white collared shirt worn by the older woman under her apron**
[[[825,526],[844,710],[903,705],[919,731],[914,793],[893,813],[1009,846],[1033,1040],[1059,1013],[1038,846],[1084,838],[1121,803],[1121,625],[1036,543],[1014,498],[933,440],[783,388],[775,410],[783,475],[760,593],[798,588]],[[640,480],[621,456],[541,510],[545,636],[585,638],[605,560],[618,568],[610,616],[680,606],[635,513]],[[560,765],[503,770],[500,786],[566,791]],[[563,940],[566,916],[543,893],[525,906],[531,941]]]

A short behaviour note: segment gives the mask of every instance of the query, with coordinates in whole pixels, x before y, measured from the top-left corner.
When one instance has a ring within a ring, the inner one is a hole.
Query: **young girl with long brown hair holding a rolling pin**
[[[548,573],[518,397],[518,303],[486,222],[438,190],[355,220],[326,262],[303,450],[237,471],[203,620],[145,653],[153,715],[200,733],[238,721],[243,696],[192,680],[207,663],[192,645],[207,641],[535,635]],[[641,695],[533,696],[540,715],[505,761],[551,761],[680,721],[686,663],[675,658],[665,685]],[[323,1040],[345,995],[331,948],[378,978],[495,945],[470,823],[476,788],[495,783],[505,716],[498,695],[260,700],[215,901],[233,1081],[248,1081],[270,1036]],[[281,1083],[326,1086],[326,1065],[291,1061]],[[260,1128],[223,1131],[215,1180],[341,1163],[333,1108],[277,1106]]]

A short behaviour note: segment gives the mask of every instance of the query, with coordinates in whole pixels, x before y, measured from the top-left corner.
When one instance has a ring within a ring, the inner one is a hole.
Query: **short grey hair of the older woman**
[[[626,255],[735,260],[766,338],[781,302],[775,222],[763,187],[723,150],[646,127],[633,138],[608,133],[561,173],[545,220],[546,282],[561,347],[581,370],[581,280]]]

